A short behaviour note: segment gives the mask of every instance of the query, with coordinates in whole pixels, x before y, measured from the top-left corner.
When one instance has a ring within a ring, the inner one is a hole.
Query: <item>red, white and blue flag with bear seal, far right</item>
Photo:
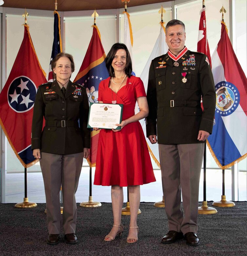
[[[233,51],[227,28],[212,55],[216,90],[216,124],[208,137],[209,149],[221,169],[247,156],[247,79]]]

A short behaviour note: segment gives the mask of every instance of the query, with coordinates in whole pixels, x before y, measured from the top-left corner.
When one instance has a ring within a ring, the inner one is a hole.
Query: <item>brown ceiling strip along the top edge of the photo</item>
[[[127,7],[164,3],[170,0],[131,0]],[[2,7],[54,11],[55,0],[4,0]],[[58,11],[83,11],[124,8],[121,0],[57,0]]]

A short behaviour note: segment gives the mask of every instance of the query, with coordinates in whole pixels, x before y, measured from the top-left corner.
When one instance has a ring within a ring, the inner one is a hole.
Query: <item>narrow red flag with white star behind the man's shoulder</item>
[[[212,68],[210,51],[209,51],[209,46],[208,46],[208,39],[207,39],[207,27],[206,27],[205,10],[206,10],[206,8],[204,7],[200,11],[201,17],[200,17],[200,23],[199,23],[197,51],[207,55],[210,67]]]

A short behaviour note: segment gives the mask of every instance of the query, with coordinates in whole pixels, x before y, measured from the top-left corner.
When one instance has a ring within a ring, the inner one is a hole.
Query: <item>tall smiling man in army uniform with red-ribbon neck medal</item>
[[[169,50],[152,60],[149,70],[146,118],[147,137],[152,144],[157,142],[158,134],[169,223],[169,232],[162,243],[185,238],[187,245],[197,246],[200,170],[204,142],[213,128],[214,80],[206,55],[184,46],[185,26],[181,21],[167,23],[165,38]]]

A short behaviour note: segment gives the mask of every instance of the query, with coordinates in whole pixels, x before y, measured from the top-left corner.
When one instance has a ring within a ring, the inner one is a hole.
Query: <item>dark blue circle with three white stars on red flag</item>
[[[11,109],[17,113],[30,110],[34,105],[37,87],[27,76],[16,77],[9,85],[7,97]]]

